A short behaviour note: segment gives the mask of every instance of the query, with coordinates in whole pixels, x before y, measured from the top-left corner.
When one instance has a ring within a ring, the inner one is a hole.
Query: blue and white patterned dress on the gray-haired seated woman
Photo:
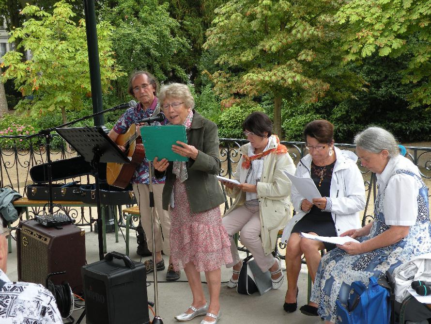
[[[395,244],[359,255],[349,255],[344,250],[335,248],[322,258],[310,300],[318,304],[318,313],[323,319],[338,322],[336,301],[339,299],[346,307],[352,282],[361,280],[368,285],[369,277],[383,276],[386,270],[393,272],[396,267],[414,256],[430,252],[428,188],[420,176],[412,171],[398,169],[392,176],[400,173],[414,177],[420,187],[417,195],[416,224],[410,227],[409,234],[403,240]],[[369,235],[358,238],[358,241],[369,240],[390,227],[385,224],[383,213],[385,190],[386,187],[379,188],[374,207],[375,218]]]

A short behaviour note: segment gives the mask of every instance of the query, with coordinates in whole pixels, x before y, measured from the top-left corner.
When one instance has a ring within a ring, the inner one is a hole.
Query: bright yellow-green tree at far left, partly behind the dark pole
[[[34,5],[23,9],[31,16],[10,33],[9,41],[21,38],[19,47],[30,50],[32,58],[22,62],[22,53],[10,51],[3,56],[2,81],[12,79],[24,98],[17,108],[29,109],[32,114],[83,108],[85,96],[91,96],[85,22],[71,20],[75,14],[71,5],[60,1],[52,14]],[[107,22],[97,25],[102,89],[108,90],[111,80],[123,75],[111,52],[113,28]],[[30,98],[31,98],[30,97]]]

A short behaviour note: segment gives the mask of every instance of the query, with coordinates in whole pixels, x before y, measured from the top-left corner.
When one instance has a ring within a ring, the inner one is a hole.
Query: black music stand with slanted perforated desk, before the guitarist
[[[59,128],[56,131],[70,146],[90,162],[96,179],[97,226],[99,228],[99,258],[103,259],[102,213],[100,208],[99,162],[130,163],[123,151],[101,127]]]

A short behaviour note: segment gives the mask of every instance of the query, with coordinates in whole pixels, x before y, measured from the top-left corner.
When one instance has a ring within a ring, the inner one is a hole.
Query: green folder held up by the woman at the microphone
[[[178,145],[177,141],[187,143],[184,125],[141,126],[140,133],[148,161],[153,161],[155,157],[159,160],[188,161],[186,156],[172,152],[172,145]]]

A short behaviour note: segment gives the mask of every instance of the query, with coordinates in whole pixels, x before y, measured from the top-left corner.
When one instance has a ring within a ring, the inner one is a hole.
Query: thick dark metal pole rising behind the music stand
[[[92,89],[93,113],[98,113],[103,110],[103,105],[94,0],[84,0],[84,12],[85,29],[87,31],[88,62],[90,65],[90,84]],[[103,115],[94,116],[93,118],[94,126],[102,126],[105,124],[105,118]]]

